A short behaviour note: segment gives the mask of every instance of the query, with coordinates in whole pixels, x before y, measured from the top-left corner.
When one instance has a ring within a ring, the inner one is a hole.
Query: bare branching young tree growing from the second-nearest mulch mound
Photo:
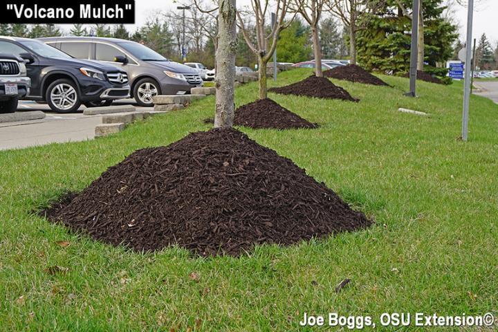
[[[289,11],[289,2],[291,0],[276,0],[275,3],[275,25],[267,30],[266,17],[270,14],[269,0],[251,0],[252,10],[246,11],[246,21],[244,21],[241,11],[237,11],[238,26],[242,31],[244,39],[252,53],[255,53],[258,59],[258,76],[259,76],[259,99],[265,99],[268,96],[266,86],[266,64],[270,61],[277,48],[277,40],[280,32],[284,30],[293,21],[296,12],[291,20],[284,24],[284,19]],[[255,19],[256,43],[250,37],[248,19]]]

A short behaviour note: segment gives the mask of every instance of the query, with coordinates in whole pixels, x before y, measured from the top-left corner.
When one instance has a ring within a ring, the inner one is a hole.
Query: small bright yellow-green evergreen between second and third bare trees
[[[295,19],[288,28],[282,30],[277,44],[279,62],[302,62],[312,56],[309,30],[299,19]]]

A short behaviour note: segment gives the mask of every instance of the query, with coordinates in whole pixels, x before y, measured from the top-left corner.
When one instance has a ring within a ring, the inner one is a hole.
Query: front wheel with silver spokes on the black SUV
[[[76,84],[65,78],[55,80],[50,84],[45,98],[50,109],[57,113],[71,113],[81,106]]]

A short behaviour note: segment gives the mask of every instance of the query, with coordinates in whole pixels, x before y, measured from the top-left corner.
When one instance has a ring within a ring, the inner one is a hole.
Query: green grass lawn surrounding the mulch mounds
[[[384,312],[498,315],[498,106],[472,95],[462,142],[461,82],[418,82],[419,97],[407,98],[407,79],[382,79],[394,87],[333,80],[358,103],[270,94],[319,129],[240,128],[376,224],[239,258],[180,248],[141,255],[32,214],[136,149],[209,129],[202,120],[212,117],[213,96],[116,136],[0,152],[0,330],[295,331],[304,312],[377,322]],[[257,85],[236,98],[252,102]],[[335,293],[344,278],[351,283]],[[303,329],[312,330],[320,329]]]

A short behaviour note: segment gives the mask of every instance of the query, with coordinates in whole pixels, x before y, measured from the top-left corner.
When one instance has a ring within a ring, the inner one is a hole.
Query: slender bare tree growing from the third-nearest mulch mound
[[[322,17],[326,0],[294,0],[293,11],[299,12],[311,27],[313,40],[313,54],[315,55],[315,75],[322,77],[322,47],[320,46],[320,33],[318,25]]]

